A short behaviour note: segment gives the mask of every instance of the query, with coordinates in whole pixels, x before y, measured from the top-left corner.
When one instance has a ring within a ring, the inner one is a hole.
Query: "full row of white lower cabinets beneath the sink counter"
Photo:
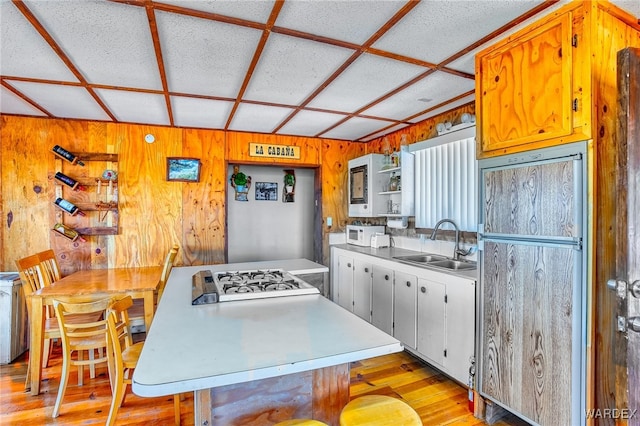
[[[476,281],[331,249],[334,302],[461,383],[475,356]]]

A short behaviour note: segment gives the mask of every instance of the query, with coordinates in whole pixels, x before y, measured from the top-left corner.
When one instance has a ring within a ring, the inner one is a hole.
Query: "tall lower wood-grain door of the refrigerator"
[[[579,424],[580,252],[484,245],[481,394],[538,424]]]

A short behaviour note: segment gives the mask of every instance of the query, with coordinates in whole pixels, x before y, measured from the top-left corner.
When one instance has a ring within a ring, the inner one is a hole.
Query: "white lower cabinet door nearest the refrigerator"
[[[475,348],[476,282],[451,277],[447,282],[445,367],[449,375],[466,383]]]

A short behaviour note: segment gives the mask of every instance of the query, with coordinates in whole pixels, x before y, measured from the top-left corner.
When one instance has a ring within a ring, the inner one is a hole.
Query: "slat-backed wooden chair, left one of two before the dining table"
[[[90,301],[91,296],[69,297],[64,300],[54,300],[56,319],[60,327],[62,340],[62,373],[60,377],[60,388],[53,407],[52,417],[58,417],[60,406],[67,389],[69,372],[72,365],[78,367],[78,384],[82,385],[82,377],[85,365],[96,365],[107,363],[108,357],[102,352],[107,347],[107,320],[106,310],[113,303],[112,297]],[[87,314],[87,318],[98,316],[98,320],[79,322],[79,314]],[[69,321],[69,320],[72,321]],[[84,359],[83,352],[95,353],[100,351],[97,357]],[[73,355],[76,355],[74,358]]]

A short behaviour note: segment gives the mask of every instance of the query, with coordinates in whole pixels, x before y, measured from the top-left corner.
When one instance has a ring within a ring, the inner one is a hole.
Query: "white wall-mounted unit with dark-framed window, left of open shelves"
[[[387,212],[384,196],[380,193],[389,176],[378,173],[383,162],[382,154],[349,160],[349,217],[376,217]]]

